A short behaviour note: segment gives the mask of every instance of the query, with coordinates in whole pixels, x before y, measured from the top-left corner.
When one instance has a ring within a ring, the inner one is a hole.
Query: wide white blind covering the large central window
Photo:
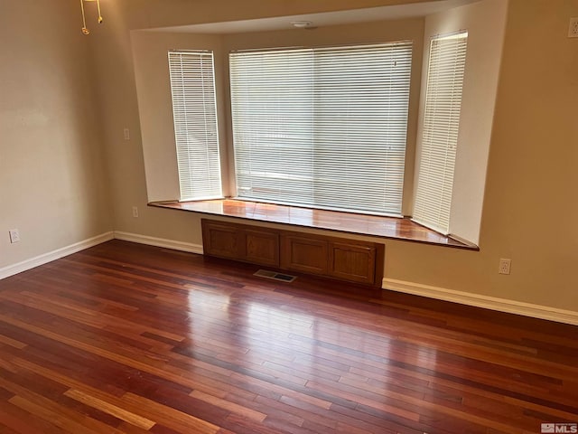
[[[401,213],[412,43],[233,52],[238,197]]]

